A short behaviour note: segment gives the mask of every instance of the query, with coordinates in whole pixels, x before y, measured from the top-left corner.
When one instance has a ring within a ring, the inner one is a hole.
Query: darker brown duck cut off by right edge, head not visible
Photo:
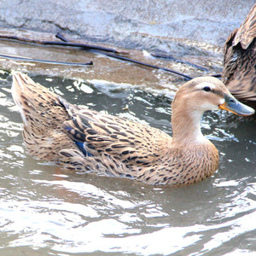
[[[256,109],[256,3],[225,42],[222,81],[239,101]]]

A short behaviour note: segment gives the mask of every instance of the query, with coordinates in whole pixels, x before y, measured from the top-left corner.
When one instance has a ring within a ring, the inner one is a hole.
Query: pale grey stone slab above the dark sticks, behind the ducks
[[[152,48],[155,38],[224,45],[254,0],[1,0],[0,26]]]

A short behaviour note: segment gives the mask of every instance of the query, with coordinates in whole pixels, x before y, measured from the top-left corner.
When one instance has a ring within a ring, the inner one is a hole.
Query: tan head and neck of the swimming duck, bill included
[[[252,115],[254,109],[238,102],[225,85],[212,77],[183,84],[172,102],[172,142],[186,145],[205,143],[201,117],[207,110],[224,109],[238,115]]]

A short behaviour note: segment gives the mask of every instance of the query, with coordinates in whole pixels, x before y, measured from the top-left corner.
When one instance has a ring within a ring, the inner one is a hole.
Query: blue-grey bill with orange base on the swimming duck
[[[236,98],[231,95],[229,96],[226,94],[224,96],[224,100],[225,100],[224,103],[218,105],[218,108],[224,109],[242,116],[248,116],[255,113],[255,110],[253,108],[248,107],[247,105],[241,102],[238,102]]]

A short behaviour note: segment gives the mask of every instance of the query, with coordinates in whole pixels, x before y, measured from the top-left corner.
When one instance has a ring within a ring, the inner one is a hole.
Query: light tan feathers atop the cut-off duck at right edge
[[[233,41],[233,46],[241,44],[243,49],[247,49],[248,46],[253,42],[253,38],[256,37],[256,4],[250,10],[246,20],[241,24],[236,37]]]

